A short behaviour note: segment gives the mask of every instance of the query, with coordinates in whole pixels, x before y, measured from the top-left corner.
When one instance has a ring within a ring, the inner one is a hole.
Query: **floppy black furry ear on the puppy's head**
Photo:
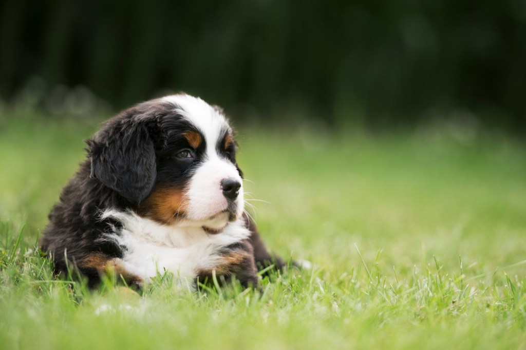
[[[150,194],[157,170],[154,144],[144,124],[131,120],[109,123],[87,143],[92,178],[134,204]]]

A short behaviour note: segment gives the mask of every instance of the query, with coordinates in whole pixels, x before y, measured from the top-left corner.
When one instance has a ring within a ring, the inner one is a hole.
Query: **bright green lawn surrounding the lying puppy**
[[[526,348],[526,149],[319,130],[243,130],[267,245],[312,270],[199,293],[56,279],[35,249],[97,122],[0,119],[0,347]]]

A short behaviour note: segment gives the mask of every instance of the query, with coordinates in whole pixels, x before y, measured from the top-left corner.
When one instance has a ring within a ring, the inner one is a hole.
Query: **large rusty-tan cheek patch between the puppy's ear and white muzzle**
[[[182,189],[159,187],[140,205],[137,213],[161,224],[173,224],[177,214],[185,215],[187,209],[188,199]]]

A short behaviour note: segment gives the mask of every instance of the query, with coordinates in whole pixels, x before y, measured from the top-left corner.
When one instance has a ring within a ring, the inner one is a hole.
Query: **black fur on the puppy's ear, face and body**
[[[103,263],[122,258],[126,249],[104,239],[104,234],[120,224],[110,218],[101,219],[100,213],[106,208],[139,212],[156,185],[182,186],[191,176],[193,165],[175,162],[174,152],[188,146],[178,135],[196,130],[174,115],[174,107],[161,100],[138,104],[110,119],[93,139],[86,141],[87,160],[64,187],[41,239],[42,249],[53,256],[57,273],[65,273],[66,264],[70,264],[88,278],[90,286],[96,285]],[[203,150],[196,150],[196,162]],[[242,174],[235,162],[235,145],[221,152]],[[257,266],[276,263],[281,268],[284,262],[270,256],[254,223],[248,217],[244,220],[251,236],[232,251],[242,250],[247,258],[225,275],[235,274],[244,285],[253,285],[257,283]],[[100,266],[93,263],[94,257],[100,260]],[[133,275],[124,277],[140,285]]]

